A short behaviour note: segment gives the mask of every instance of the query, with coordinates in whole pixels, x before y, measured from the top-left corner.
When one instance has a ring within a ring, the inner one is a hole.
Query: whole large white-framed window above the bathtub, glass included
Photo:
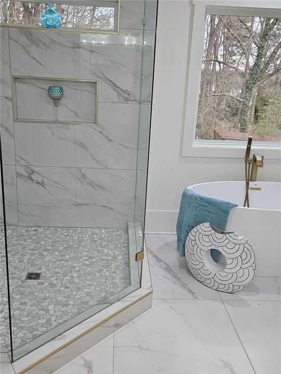
[[[230,6],[233,1],[194,3],[182,155],[241,157],[251,135],[254,148],[270,149],[267,156],[277,157],[280,5],[271,1],[277,6],[271,10],[250,8],[251,1],[243,1],[244,8]]]

